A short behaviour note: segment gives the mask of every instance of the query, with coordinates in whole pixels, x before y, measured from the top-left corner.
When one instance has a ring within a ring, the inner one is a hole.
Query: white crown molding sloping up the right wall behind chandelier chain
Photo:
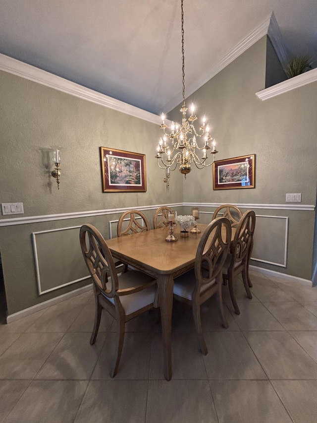
[[[261,25],[255,28],[250,32],[245,38],[243,38],[233,49],[231,49],[227,54],[222,56],[222,58],[215,63],[207,72],[203,73],[199,78],[197,78],[192,84],[186,86],[186,96],[190,96],[199,88],[201,88],[206,82],[213,78],[217,73],[224,69],[228,64],[233,60],[237,59],[242,53],[248,50],[253,44],[259,41],[264,35],[267,35],[268,28],[270,25],[272,14],[268,15]],[[182,101],[182,93],[179,92],[175,97],[173,97],[162,110],[171,111]]]

